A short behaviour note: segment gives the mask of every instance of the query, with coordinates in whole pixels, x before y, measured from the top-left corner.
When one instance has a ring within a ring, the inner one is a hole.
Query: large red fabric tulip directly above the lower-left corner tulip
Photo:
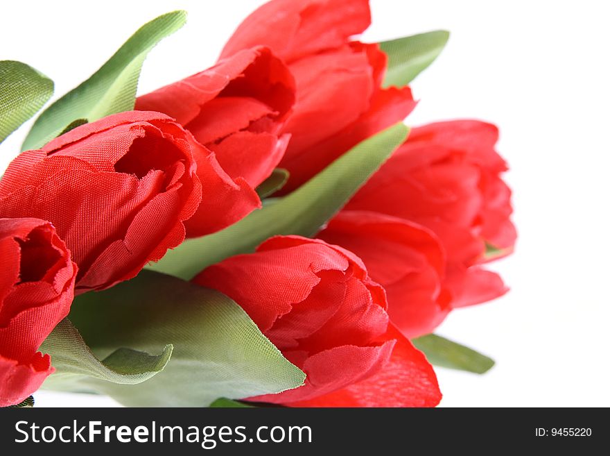
[[[111,287],[184,240],[201,201],[193,155],[212,195],[205,210],[226,219],[239,201],[232,180],[157,112],[112,115],[21,153],[0,180],[0,217],[50,221],[78,264],[77,291]]]

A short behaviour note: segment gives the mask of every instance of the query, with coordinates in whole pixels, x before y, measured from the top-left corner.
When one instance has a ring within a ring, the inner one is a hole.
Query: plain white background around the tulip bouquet
[[[140,92],[207,68],[259,0],[10,2],[0,59],[21,60],[64,94],[141,24],[163,12],[189,22],[150,53]],[[610,406],[610,70],[601,1],[372,0],[365,40],[444,28],[442,56],[412,84],[408,124],[474,117],[501,128],[512,171],[516,253],[493,265],[512,291],[453,312],[438,333],[497,364],[478,376],[438,369],[444,406]],[[7,10],[8,8],[8,10]],[[26,127],[27,128],[27,127]],[[24,128],[0,146],[0,169]],[[38,405],[114,405],[39,393]]]

